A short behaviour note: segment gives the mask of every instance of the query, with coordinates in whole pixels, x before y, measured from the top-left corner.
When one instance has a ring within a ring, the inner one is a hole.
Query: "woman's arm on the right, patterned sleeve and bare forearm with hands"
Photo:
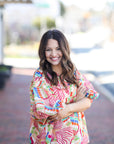
[[[74,112],[83,112],[90,108],[93,99],[98,98],[99,94],[94,90],[92,84],[76,71],[76,79],[79,83],[79,88],[77,89],[76,102],[67,104],[66,107],[60,110],[56,115],[50,116],[49,120],[57,121],[68,117]]]

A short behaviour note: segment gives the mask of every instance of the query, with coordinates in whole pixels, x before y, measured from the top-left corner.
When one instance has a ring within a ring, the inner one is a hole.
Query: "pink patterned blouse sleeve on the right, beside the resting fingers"
[[[88,97],[92,100],[97,99],[99,97],[99,93],[94,89],[90,81],[87,80],[85,75],[82,75],[78,70],[76,70],[76,79],[79,83],[79,86],[83,85],[87,88],[85,97]]]

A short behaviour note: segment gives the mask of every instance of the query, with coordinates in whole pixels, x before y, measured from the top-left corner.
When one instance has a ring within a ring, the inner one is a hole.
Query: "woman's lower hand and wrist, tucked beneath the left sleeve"
[[[58,120],[61,120],[63,118],[68,117],[71,114],[72,113],[70,112],[70,109],[69,109],[68,105],[66,105],[66,107],[64,109],[60,110],[57,114],[55,114],[53,116],[49,116],[48,120],[56,122]]]

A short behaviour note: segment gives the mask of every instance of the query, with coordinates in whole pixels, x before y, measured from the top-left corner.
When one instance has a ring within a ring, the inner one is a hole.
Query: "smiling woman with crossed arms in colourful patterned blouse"
[[[89,143],[84,111],[98,93],[72,63],[64,34],[44,33],[39,57],[30,88],[30,144]]]

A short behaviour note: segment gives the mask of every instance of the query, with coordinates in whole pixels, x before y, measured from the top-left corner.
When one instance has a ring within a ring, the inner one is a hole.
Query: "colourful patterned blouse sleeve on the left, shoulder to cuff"
[[[44,85],[42,73],[35,72],[30,88],[31,114],[32,117],[41,120],[43,124],[48,116],[56,114],[62,108],[60,100],[56,101],[53,107],[47,104],[49,89],[46,89]]]

